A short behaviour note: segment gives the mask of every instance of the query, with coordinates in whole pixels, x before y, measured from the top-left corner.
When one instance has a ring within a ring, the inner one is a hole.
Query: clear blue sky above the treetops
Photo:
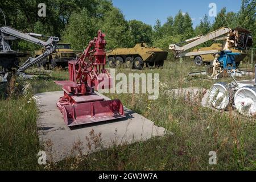
[[[125,15],[126,20],[137,19],[154,26],[156,19],[165,23],[168,16],[175,16],[179,10],[188,13],[192,18],[193,27],[200,23],[200,18],[208,15],[209,3],[216,3],[217,13],[226,7],[227,11],[237,13],[241,0],[112,0]],[[208,16],[210,22],[214,17]]]

